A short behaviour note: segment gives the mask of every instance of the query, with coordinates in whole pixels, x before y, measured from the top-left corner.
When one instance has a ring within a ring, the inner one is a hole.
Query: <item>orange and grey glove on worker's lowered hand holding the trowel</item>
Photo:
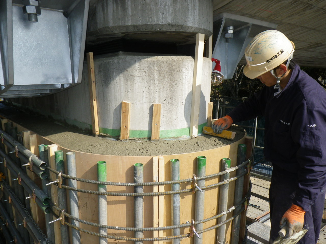
[[[302,230],[304,227],[304,213],[305,211],[295,204],[292,204],[291,208],[284,213],[280,222],[281,228],[285,224],[288,227],[287,234],[284,238],[289,238]]]

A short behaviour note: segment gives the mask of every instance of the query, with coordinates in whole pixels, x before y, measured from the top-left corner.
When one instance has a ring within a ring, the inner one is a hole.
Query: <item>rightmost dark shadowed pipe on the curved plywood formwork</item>
[[[247,146],[245,144],[238,145],[238,153],[237,153],[237,166],[242,164],[245,161],[247,152]],[[236,175],[243,173],[245,170],[244,167],[237,169]],[[235,181],[235,188],[234,188],[234,205],[238,204],[242,199],[244,188],[244,177],[241,177]],[[237,214],[240,211],[239,208],[233,211],[233,214]],[[232,235],[231,235],[231,244],[238,244],[239,242],[239,233],[240,228],[245,228],[245,226],[240,226],[241,215],[238,215],[234,218],[232,222]],[[240,227],[240,228],[239,228]]]

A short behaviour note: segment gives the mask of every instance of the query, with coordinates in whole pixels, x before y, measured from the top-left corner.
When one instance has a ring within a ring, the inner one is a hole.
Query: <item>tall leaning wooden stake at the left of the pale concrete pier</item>
[[[89,97],[91,103],[91,117],[92,117],[92,129],[93,134],[98,135],[98,115],[97,115],[97,101],[96,101],[96,83],[95,83],[95,71],[94,71],[94,58],[93,53],[87,53],[87,66],[88,66],[88,87]]]

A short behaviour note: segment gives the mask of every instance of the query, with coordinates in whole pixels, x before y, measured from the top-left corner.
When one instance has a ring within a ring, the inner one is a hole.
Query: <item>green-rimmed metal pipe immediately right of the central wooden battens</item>
[[[173,158],[170,160],[171,162],[171,180],[177,181],[180,180],[180,161],[179,159]],[[172,184],[172,191],[179,191],[180,184]],[[180,224],[180,194],[172,195],[172,225]],[[172,236],[179,236],[180,228],[172,229]],[[180,239],[173,239],[173,244],[179,244]]]

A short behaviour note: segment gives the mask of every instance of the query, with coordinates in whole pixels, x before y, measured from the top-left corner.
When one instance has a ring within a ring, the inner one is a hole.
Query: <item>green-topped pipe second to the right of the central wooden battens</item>
[[[206,157],[198,156],[197,157],[197,174],[196,177],[205,176],[206,175]],[[205,179],[197,181],[198,187],[201,188],[205,186]],[[204,197],[205,191],[202,190],[200,192],[198,189],[196,190],[196,201],[195,201],[195,221],[204,219]],[[196,225],[197,230],[203,229],[203,224]],[[194,244],[202,243],[202,233],[199,234],[200,238],[197,235],[194,235]]]

